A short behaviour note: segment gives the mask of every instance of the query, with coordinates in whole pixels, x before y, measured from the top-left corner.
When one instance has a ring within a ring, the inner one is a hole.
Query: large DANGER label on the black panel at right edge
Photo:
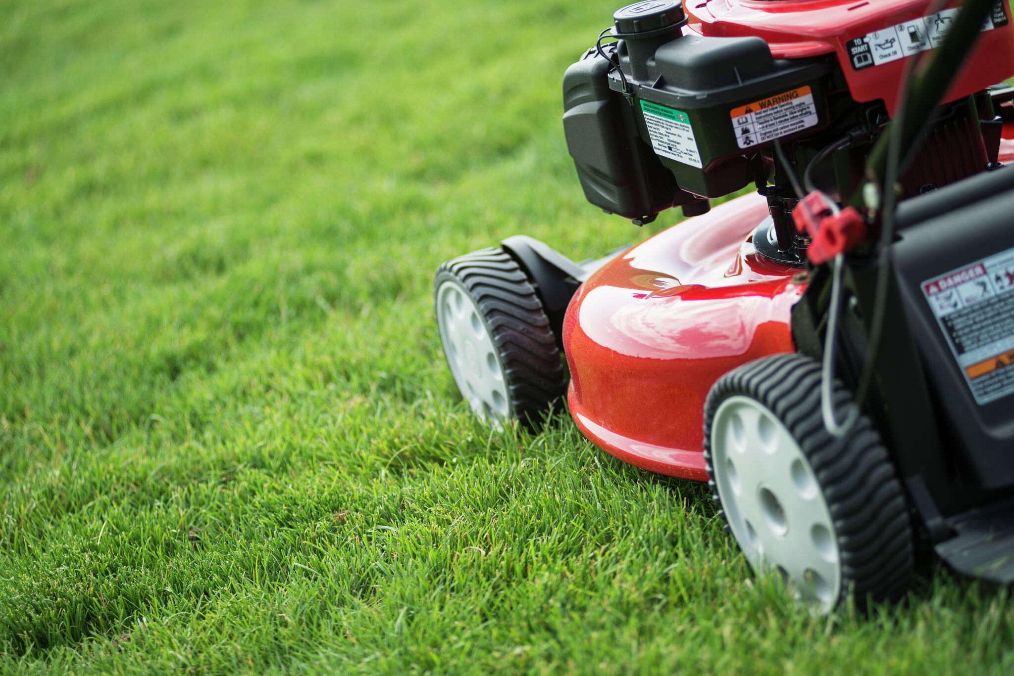
[[[975,401],[1014,393],[1014,248],[923,282]]]

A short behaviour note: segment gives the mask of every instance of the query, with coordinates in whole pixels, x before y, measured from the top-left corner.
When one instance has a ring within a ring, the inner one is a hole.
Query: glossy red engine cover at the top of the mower
[[[874,30],[928,13],[928,0],[692,0],[687,29],[703,35],[756,35],[776,59],[836,54],[852,97],[883,99],[893,115],[897,82],[906,62],[898,59],[855,70],[846,43]],[[961,3],[951,0],[947,7]],[[1006,26],[981,33],[975,50],[945,96],[951,101],[1001,82],[1014,73],[1014,17]]]

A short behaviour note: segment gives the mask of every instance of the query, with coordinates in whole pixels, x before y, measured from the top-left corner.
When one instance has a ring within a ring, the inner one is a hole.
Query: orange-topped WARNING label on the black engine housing
[[[749,148],[815,127],[817,109],[809,87],[770,96],[729,111],[740,148]]]

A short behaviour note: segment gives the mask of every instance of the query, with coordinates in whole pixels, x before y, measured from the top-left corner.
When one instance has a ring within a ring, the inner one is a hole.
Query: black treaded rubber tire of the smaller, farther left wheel
[[[475,304],[492,339],[494,354],[506,386],[504,418],[515,418],[530,426],[566,392],[567,382],[550,320],[535,289],[517,262],[501,248],[485,248],[458,256],[437,269],[433,281],[435,305],[441,287],[457,285]],[[441,342],[451,362],[447,336],[436,306]],[[460,376],[451,367],[462,396],[468,400]],[[473,409],[484,411],[473,403]]]

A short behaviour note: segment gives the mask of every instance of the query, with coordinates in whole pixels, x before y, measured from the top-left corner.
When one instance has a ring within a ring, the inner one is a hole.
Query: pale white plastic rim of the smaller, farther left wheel
[[[508,418],[510,397],[493,336],[468,292],[452,280],[437,289],[437,323],[461,396],[486,420]]]

